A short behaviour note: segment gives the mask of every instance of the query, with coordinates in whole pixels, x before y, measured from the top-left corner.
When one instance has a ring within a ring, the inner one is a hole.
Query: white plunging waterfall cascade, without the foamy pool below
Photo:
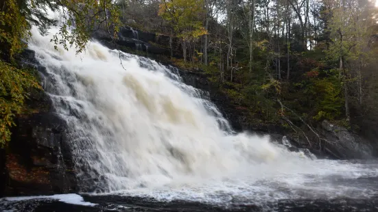
[[[292,156],[268,137],[232,135],[203,92],[153,60],[122,53],[125,70],[119,53],[97,42],[75,55],[33,35],[29,48],[49,73],[43,86],[70,126],[79,174],[97,178],[99,191],[222,176]]]

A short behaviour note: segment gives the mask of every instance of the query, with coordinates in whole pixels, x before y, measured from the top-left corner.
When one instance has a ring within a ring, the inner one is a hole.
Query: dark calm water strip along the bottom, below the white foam
[[[378,211],[378,196],[368,199],[338,198],[331,200],[278,200],[257,204],[231,203],[226,207],[174,200],[158,202],[149,198],[127,196],[82,196],[95,205],[71,204],[49,198],[8,201],[1,200],[2,211]],[[251,197],[253,198],[253,197]]]

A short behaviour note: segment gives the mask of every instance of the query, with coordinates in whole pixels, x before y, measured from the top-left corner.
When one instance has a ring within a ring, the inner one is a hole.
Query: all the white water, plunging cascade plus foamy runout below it
[[[124,70],[118,53],[97,42],[80,55],[55,51],[49,42],[55,32],[43,37],[33,31],[29,48],[49,73],[43,86],[69,124],[83,185],[107,194],[217,204],[376,194],[347,183],[377,176],[376,164],[311,160],[269,137],[233,135],[203,92],[181,83],[174,71],[128,54]]]

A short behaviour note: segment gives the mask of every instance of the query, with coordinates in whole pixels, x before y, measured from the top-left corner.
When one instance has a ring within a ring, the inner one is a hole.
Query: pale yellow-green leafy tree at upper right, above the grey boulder
[[[357,70],[358,102],[362,104],[362,66],[369,55],[369,26],[374,23],[372,3],[366,1],[342,1],[331,10],[329,32],[331,44],[327,50],[332,59],[338,59],[340,79],[344,88],[345,116],[350,120],[349,83],[351,70]]]

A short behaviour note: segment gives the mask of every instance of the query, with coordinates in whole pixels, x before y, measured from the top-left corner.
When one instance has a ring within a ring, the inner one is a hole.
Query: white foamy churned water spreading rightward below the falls
[[[261,204],[287,199],[370,198],[378,195],[377,161],[316,160],[277,166],[255,165],[253,172],[228,177],[183,178],[163,186],[128,189],[113,194],[158,201],[187,200],[210,204]],[[294,169],[293,169],[294,168]],[[364,179],[368,178],[368,183]],[[360,181],[362,180],[362,181]],[[108,194],[100,194],[108,195]]]

